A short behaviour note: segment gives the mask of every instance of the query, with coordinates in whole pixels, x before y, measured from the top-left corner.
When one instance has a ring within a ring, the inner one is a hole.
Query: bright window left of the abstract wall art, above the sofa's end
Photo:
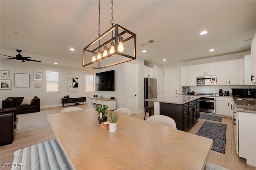
[[[58,92],[59,72],[46,71],[46,92]]]

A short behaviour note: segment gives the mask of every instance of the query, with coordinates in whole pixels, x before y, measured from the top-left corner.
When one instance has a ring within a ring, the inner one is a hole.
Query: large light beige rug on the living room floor
[[[18,125],[16,133],[49,127],[46,115],[57,113],[55,110],[40,111],[17,115]]]

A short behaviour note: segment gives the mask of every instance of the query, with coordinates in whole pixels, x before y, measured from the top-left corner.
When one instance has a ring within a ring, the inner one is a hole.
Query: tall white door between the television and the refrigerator
[[[126,63],[126,108],[130,115],[138,113],[138,68],[136,63]]]

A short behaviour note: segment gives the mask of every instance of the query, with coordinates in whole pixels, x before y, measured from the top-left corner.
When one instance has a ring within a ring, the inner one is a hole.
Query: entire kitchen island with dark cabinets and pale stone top
[[[174,119],[178,130],[187,130],[199,118],[200,97],[167,96],[145,101],[154,102],[154,115],[165,115]]]

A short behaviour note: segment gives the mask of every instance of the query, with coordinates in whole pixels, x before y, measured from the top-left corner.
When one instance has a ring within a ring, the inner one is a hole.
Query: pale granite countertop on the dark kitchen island
[[[154,102],[160,102],[160,103],[172,103],[172,104],[178,104],[183,105],[185,103],[188,103],[190,101],[194,101],[196,99],[200,99],[200,97],[197,96],[167,96],[167,97],[157,97],[152,99],[145,99],[145,101],[154,101]]]

